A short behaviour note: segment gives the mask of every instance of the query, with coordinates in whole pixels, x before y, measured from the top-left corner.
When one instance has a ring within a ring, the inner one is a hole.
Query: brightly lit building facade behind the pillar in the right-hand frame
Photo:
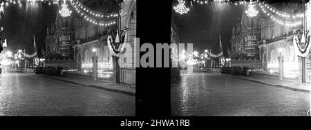
[[[282,11],[296,13],[302,12],[301,9],[299,3],[289,3],[283,7]],[[290,21],[291,19],[286,20]],[[299,58],[294,52],[293,37],[296,34],[302,34],[303,25],[281,25],[270,19],[270,17],[262,17],[260,25],[262,40],[259,47],[263,69],[270,73],[278,72],[278,56],[282,55],[284,56],[285,78],[298,78]]]

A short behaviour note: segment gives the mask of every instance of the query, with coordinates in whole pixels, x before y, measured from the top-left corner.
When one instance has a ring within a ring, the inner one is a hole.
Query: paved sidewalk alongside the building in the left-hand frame
[[[26,72],[26,73],[30,73],[30,72]],[[110,80],[94,80],[93,77],[79,76],[77,74],[66,74],[66,76],[46,76],[46,75],[39,74],[37,76],[51,78],[54,80],[62,80],[64,82],[73,83],[76,85],[94,87],[97,89],[104,89],[106,91],[113,91],[113,92],[135,96],[135,85],[117,84],[117,83],[113,83]]]

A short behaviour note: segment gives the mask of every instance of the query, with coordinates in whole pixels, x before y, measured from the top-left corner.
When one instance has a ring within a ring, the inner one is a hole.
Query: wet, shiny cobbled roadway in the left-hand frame
[[[135,96],[34,74],[4,73],[0,116],[135,116]]]

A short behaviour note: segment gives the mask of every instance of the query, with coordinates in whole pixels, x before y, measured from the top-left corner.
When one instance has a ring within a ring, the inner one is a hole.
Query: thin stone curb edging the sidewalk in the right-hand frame
[[[219,73],[215,73],[215,72],[210,72],[210,73],[219,74]],[[283,85],[271,85],[271,84],[263,83],[263,82],[258,81],[258,80],[249,80],[249,79],[245,79],[245,78],[235,77],[235,76],[232,76],[232,75],[225,75],[225,74],[220,74],[220,75],[222,75],[222,76],[229,76],[229,77],[237,78],[237,79],[240,79],[240,80],[247,80],[247,81],[254,82],[254,83],[260,83],[260,84],[267,85],[267,86],[279,87],[279,88],[283,88],[283,89],[290,89],[292,91],[299,91],[299,92],[304,92],[304,93],[310,94],[310,90],[297,89],[297,88],[283,86]]]

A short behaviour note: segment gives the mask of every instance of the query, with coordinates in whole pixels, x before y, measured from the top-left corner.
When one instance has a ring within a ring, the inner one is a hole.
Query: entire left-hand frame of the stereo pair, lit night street
[[[135,116],[136,0],[0,3],[0,116]]]

